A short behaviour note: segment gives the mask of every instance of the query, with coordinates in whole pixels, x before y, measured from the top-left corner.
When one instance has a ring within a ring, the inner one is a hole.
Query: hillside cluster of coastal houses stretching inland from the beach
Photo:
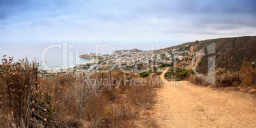
[[[134,68],[139,64],[148,64],[149,67],[159,66],[160,63],[171,64],[175,59],[182,60],[183,55],[188,53],[189,50],[178,51],[176,48],[171,50],[154,50],[154,51],[140,51],[140,50],[124,50],[117,53],[108,55],[99,55],[97,60],[90,62],[89,64],[81,64],[72,68],[60,68],[49,69],[47,73],[61,73],[61,72],[90,72],[98,68],[113,68],[118,66],[119,68]],[[96,56],[95,54],[87,55],[86,57]],[[85,57],[85,56],[83,56]]]

